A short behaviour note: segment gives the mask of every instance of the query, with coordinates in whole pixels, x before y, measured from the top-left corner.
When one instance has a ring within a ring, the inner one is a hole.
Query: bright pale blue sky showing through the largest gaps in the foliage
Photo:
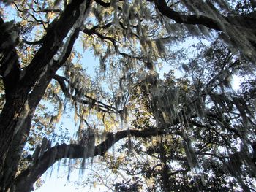
[[[10,7],[8,8],[10,9]],[[77,45],[79,47],[79,41],[77,42]],[[91,76],[94,76],[94,67],[99,65],[99,59],[94,58],[93,53],[91,53],[89,50],[86,50],[84,53],[81,48],[78,48],[80,53],[83,55],[83,58],[81,60],[81,63],[86,66],[86,72],[91,74]],[[170,66],[165,64],[162,68],[162,73],[163,72],[168,72],[170,69]],[[162,73],[161,76],[162,76]],[[178,73],[176,73],[178,74]],[[242,80],[241,77],[234,76],[233,77],[233,89],[237,90],[239,87],[239,82]],[[63,124],[63,128],[67,128],[71,135],[75,133],[75,125],[72,122],[72,118],[62,118],[61,120]],[[93,168],[93,167],[92,167]],[[51,177],[50,177],[50,172],[52,171]],[[96,186],[91,187],[91,185],[86,185],[83,188],[78,188],[78,185],[73,185],[73,183],[77,180],[83,180],[81,177],[84,177],[86,179],[86,175],[91,174],[89,170],[86,170],[86,173],[84,176],[81,176],[78,174],[78,170],[72,172],[70,180],[67,180],[67,167],[64,167],[61,165],[61,168],[59,169],[59,172],[57,171],[57,167],[53,166],[53,169],[49,169],[48,172],[46,172],[44,175],[42,175],[42,180],[44,180],[44,183],[42,187],[39,189],[35,190],[37,192],[48,192],[48,191],[61,191],[61,192],[70,192],[70,191],[109,191],[108,188],[105,188],[104,186],[100,185],[98,183]],[[89,175],[91,177],[91,175]]]

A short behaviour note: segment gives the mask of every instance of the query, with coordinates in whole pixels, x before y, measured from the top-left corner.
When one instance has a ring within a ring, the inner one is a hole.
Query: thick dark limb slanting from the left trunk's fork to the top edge
[[[90,3],[91,1],[86,1],[85,12],[89,9]],[[47,34],[43,38],[42,47],[38,50],[37,54],[34,55],[31,64],[26,67],[26,74],[21,83],[26,85],[28,89],[38,80],[45,66],[50,64],[53,56],[61,47],[64,38],[67,37],[67,34],[75,25],[80,15],[84,15],[83,12],[80,12],[81,4],[83,4],[83,0],[72,1],[67,5],[67,9],[61,13],[59,19],[56,18],[56,20],[50,24]]]

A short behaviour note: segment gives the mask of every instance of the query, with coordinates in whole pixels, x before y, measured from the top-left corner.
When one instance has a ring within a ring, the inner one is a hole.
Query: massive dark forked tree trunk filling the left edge
[[[0,53],[3,55],[0,73],[6,93],[6,103],[0,115],[0,191],[7,191],[12,184],[37,104],[56,71],[67,60],[78,37],[80,26],[75,29],[62,60],[53,61],[53,56],[61,47],[64,38],[80,17],[82,3],[83,0],[72,1],[59,19],[53,21],[42,40],[42,47],[22,72],[15,42],[11,41],[12,31],[9,30],[8,23],[0,19],[0,28],[7,36],[0,38]],[[91,1],[86,1],[86,11],[90,4]]]

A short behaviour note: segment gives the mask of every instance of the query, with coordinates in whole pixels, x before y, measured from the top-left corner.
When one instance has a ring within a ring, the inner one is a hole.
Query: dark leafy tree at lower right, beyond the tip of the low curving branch
[[[252,125],[255,120],[240,110],[250,109],[252,114],[255,113],[251,102],[255,98],[252,96],[255,80],[244,82],[238,93],[231,91],[230,77],[223,76],[223,73],[234,64],[240,71],[243,64],[233,60],[234,55],[219,40],[210,48],[205,49],[203,45],[200,48],[199,55],[184,67],[187,69],[186,77],[191,75],[193,81],[189,78],[176,79],[170,72],[165,74],[165,82],[155,84],[162,85],[157,88],[157,94],[154,91],[148,94],[145,83],[135,88],[132,99],[140,106],[135,110],[132,126],[151,128],[154,125],[149,120],[150,116],[156,118],[154,114],[157,113],[157,117],[163,116],[159,123],[170,132],[135,142],[135,153],[128,153],[126,161],[118,162],[118,169],[133,177],[146,177],[151,183],[148,191],[159,191],[160,188],[162,191],[241,191],[241,188],[253,191],[251,186],[255,176],[251,171],[255,169],[255,144],[252,142]],[[154,111],[155,102],[162,114]],[[139,110],[142,107],[143,112]],[[242,123],[243,116],[250,123]],[[244,131],[248,133],[250,145],[242,139],[246,138],[242,136]],[[124,145],[121,150],[126,148]],[[231,177],[236,180],[230,180]],[[127,183],[118,185],[127,186]]]

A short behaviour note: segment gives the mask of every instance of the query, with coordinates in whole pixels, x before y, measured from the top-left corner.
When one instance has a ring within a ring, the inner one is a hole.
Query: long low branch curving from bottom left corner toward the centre
[[[28,169],[16,177],[11,191],[31,191],[33,189],[33,184],[39,179],[39,177],[41,177],[42,174],[44,174],[47,169],[50,168],[50,166],[56,163],[56,161],[59,161],[62,158],[90,158],[97,155],[105,155],[110,147],[112,147],[120,139],[128,137],[129,135],[132,137],[148,138],[163,134],[167,133],[154,128],[152,128],[152,130],[144,131],[125,130],[118,131],[116,134],[108,133],[105,141],[95,147],[93,155],[86,153],[86,147],[81,145],[56,145],[39,157],[34,165],[29,166]]]

